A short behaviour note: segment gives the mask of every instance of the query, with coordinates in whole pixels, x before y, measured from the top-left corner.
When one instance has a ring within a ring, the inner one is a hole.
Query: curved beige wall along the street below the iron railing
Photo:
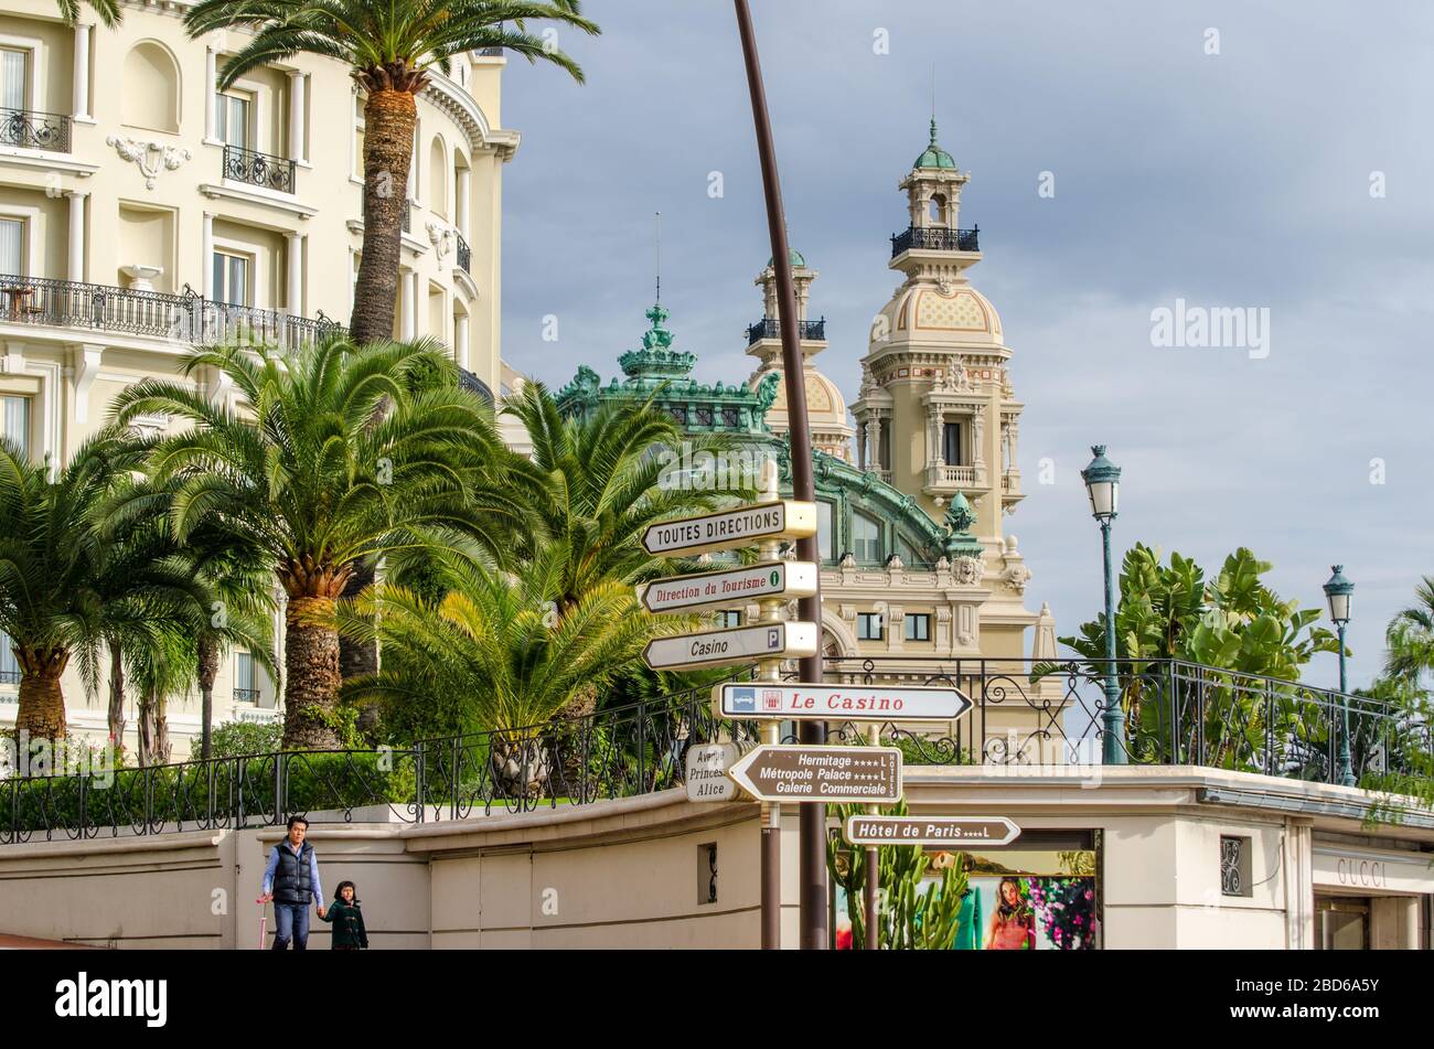
[[[1057,770],[1048,770],[1057,771]],[[1359,791],[1199,768],[1011,775],[909,767],[913,813],[1004,814],[1024,831],[1100,831],[1107,949],[1304,949],[1314,835],[1385,857],[1402,880],[1372,894],[1371,939],[1411,947],[1434,893],[1434,831],[1205,804],[1202,788],[1276,794],[1291,804],[1367,800]],[[756,947],[757,805],[698,805],[680,791],[460,821],[310,831],[327,894],[357,883],[374,947]],[[783,942],[797,942],[796,811],[783,815]],[[281,835],[192,831],[148,838],[0,847],[0,931],[122,947],[251,949],[264,857]],[[1219,837],[1250,838],[1252,894],[1220,894]],[[706,903],[717,846],[717,901]],[[1321,848],[1332,846],[1324,844]],[[1411,848],[1424,848],[1417,853]],[[315,924],[314,947],[327,946]]]

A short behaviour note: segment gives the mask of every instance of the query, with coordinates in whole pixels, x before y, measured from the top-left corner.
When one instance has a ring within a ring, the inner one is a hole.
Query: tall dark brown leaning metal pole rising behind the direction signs
[[[807,424],[806,383],[802,374],[802,347],[797,338],[797,297],[792,285],[792,255],[787,246],[787,221],[782,208],[782,182],[777,158],[771,145],[771,120],[767,116],[767,93],[761,86],[761,64],[757,60],[757,40],[751,29],[747,0],[733,0],[737,10],[737,30],[741,34],[741,54],[747,64],[747,90],[751,95],[751,120],[757,132],[757,155],[761,161],[761,185],[767,198],[767,228],[771,236],[771,265],[777,278],[777,304],[782,330],[782,370],[786,375],[787,427],[792,449],[792,496],[812,502],[816,484],[812,479],[812,431]],[[797,540],[797,557],[822,563],[816,536]],[[820,573],[817,592],[803,598],[797,606],[804,622],[822,622]],[[817,635],[820,638],[820,633]],[[803,681],[822,681],[822,646],[816,655],[802,661]],[[803,721],[797,728],[800,742],[826,742],[825,721]],[[802,949],[826,950],[827,942],[827,881],[826,881],[826,805],[803,804],[799,817],[799,878],[802,883]]]

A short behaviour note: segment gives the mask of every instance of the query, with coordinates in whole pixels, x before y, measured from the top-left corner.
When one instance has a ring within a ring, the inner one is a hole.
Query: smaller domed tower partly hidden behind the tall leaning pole
[[[792,249],[792,284],[797,300],[797,335],[802,340],[802,367],[806,377],[807,424],[812,430],[812,447],[843,463],[852,461],[852,426],[846,421],[846,398],[836,384],[823,375],[812,358],[826,350],[826,318],[807,320],[807,302],[812,295],[812,281],[820,274],[812,269],[802,252]],[[761,288],[761,320],[747,328],[747,353],[757,358],[757,370],[747,378],[753,390],[769,373],[782,375],[782,317],[777,301],[777,274],[767,267],[757,274]],[[787,436],[787,388],[786,381],[777,383],[777,398],[767,410],[767,427],[779,437]]]

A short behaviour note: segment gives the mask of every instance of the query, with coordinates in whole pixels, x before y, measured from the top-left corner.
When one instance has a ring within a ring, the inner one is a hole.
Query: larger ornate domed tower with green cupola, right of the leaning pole
[[[1017,440],[1022,404],[1007,370],[1001,317],[971,285],[979,229],[961,228],[969,175],[931,142],[901,182],[908,226],[892,236],[891,268],[902,275],[872,324],[862,358],[858,463],[918,499],[941,520],[961,493],[987,569],[1005,550],[1002,513],[1021,500]]]

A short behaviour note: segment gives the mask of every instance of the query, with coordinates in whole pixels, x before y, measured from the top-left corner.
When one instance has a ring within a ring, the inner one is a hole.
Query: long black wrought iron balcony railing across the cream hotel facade
[[[294,350],[341,331],[320,312],[294,317],[277,310],[215,302],[188,284],[178,295],[0,274],[0,324],[120,331],[186,344],[248,340]]]

